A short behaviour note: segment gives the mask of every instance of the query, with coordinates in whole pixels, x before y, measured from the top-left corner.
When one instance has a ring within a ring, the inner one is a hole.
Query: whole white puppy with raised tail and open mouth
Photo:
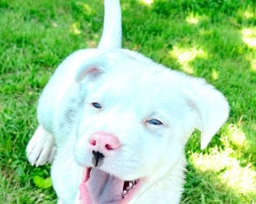
[[[68,56],[39,99],[27,154],[53,157],[58,203],[179,203],[189,135],[199,129],[204,149],[228,117],[204,80],[121,49],[120,13],[105,1],[99,47]]]

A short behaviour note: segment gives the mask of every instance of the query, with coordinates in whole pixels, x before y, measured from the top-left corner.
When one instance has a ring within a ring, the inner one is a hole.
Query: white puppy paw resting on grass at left
[[[54,156],[54,150],[53,136],[38,126],[26,148],[29,163],[36,166],[46,164]]]

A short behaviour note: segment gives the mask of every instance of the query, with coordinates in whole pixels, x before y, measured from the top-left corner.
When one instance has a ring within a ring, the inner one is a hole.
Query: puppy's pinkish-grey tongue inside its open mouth
[[[118,204],[123,199],[124,180],[97,168],[92,168],[90,179],[84,184],[88,192],[81,192],[81,194],[88,193],[87,196],[92,200],[92,204]]]

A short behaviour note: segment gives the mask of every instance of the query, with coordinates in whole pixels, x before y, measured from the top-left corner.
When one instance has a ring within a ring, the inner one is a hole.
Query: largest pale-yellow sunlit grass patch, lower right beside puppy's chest
[[[256,196],[256,171],[251,164],[241,166],[239,160],[231,157],[231,149],[212,149],[211,154],[194,153],[190,159],[203,173],[214,171],[223,185],[228,185],[237,193],[249,193]]]

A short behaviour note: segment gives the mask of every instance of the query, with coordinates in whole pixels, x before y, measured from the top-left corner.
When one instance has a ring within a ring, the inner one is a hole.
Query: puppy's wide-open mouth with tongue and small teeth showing
[[[129,203],[141,186],[141,180],[122,180],[99,168],[85,168],[80,184],[83,204]]]

